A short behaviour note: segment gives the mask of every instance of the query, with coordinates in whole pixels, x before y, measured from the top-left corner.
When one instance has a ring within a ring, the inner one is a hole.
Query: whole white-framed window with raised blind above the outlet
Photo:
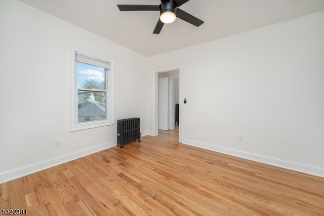
[[[113,124],[113,62],[70,47],[70,131]]]

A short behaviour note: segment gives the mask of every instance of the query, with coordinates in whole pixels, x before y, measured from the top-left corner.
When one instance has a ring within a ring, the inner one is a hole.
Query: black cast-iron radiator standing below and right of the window
[[[123,144],[131,141],[141,141],[140,118],[117,120],[117,146],[124,148]]]

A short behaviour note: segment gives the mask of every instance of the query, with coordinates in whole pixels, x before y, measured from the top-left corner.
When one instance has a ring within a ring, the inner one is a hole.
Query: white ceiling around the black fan
[[[205,21],[181,19],[153,34],[158,11],[119,11],[117,4],[159,5],[160,0],[20,0],[145,56],[220,39],[324,10],[324,0],[190,0],[180,8]]]

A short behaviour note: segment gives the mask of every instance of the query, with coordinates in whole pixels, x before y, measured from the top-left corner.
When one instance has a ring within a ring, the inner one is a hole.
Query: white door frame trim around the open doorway
[[[169,67],[164,69],[153,70],[153,110],[152,126],[153,136],[158,135],[158,74],[172,70],[179,70],[179,142],[182,143],[182,69],[181,66]]]

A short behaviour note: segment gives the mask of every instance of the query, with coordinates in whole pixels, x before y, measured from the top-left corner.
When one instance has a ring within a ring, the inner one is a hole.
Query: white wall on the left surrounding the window
[[[116,145],[116,124],[69,132],[69,46],[114,60],[115,123],[140,117],[147,134],[147,57],[15,0],[0,31],[0,183]]]

